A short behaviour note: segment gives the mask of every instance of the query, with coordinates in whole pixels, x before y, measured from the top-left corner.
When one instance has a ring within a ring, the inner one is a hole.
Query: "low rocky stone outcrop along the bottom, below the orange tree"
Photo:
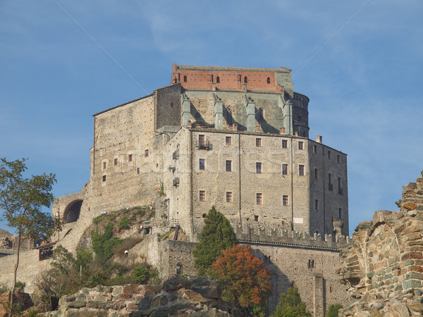
[[[61,297],[59,310],[44,316],[236,316],[221,299],[219,284],[204,277],[173,277],[161,285],[121,285]]]

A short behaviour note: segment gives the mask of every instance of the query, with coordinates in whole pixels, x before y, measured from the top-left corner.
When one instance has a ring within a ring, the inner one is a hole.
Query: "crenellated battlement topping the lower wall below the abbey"
[[[297,247],[306,249],[330,249],[338,250],[343,244],[350,244],[350,237],[320,235],[313,236],[307,232],[298,232],[286,229],[267,228],[236,228],[238,242],[247,244],[271,244],[284,247]]]

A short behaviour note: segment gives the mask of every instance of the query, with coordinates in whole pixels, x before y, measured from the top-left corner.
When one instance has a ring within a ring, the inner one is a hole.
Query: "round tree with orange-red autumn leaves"
[[[248,246],[223,250],[212,265],[212,275],[221,283],[223,299],[241,307],[264,304],[271,294],[270,272]]]

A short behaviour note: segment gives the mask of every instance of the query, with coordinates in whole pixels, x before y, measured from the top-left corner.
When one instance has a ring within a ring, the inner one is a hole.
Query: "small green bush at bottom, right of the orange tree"
[[[287,294],[281,295],[281,302],[276,306],[275,317],[312,316],[305,303],[301,302],[297,288],[288,288]]]

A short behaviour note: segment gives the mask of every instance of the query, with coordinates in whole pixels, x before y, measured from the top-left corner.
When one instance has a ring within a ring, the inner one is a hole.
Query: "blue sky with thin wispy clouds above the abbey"
[[[310,138],[348,154],[350,234],[398,209],[423,170],[421,0],[145,2],[0,0],[1,157],[76,192],[92,114],[170,84],[172,63],[286,66]]]

